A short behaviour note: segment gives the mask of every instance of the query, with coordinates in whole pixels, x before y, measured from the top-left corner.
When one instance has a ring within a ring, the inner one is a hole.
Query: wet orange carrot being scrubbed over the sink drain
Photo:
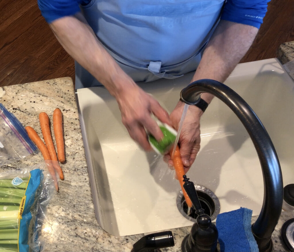
[[[172,156],[172,152],[173,152],[173,149],[171,149],[171,151],[170,151],[171,156]],[[185,183],[185,182],[183,182],[183,175],[185,175],[185,169],[184,169],[183,162],[182,162],[182,159],[181,159],[179,146],[176,147],[176,151],[173,154],[172,160],[173,160],[173,166],[174,166],[175,171],[176,171],[176,176],[178,178],[178,181],[181,184],[181,188],[182,188],[183,195],[185,197],[186,203],[187,203],[188,207],[192,207],[192,201],[190,200],[188,194],[186,193],[186,191],[185,191],[185,189],[183,187],[183,185]]]

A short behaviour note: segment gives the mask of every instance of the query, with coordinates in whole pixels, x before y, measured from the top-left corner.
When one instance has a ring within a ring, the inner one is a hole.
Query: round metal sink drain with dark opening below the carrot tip
[[[216,219],[216,216],[220,213],[220,202],[216,195],[204,186],[194,185],[201,207],[204,209],[204,213],[208,214],[213,221]],[[195,208],[192,207],[188,212],[188,205],[185,201],[182,190],[178,193],[177,196],[177,207],[180,213],[189,221],[196,221],[197,213]]]

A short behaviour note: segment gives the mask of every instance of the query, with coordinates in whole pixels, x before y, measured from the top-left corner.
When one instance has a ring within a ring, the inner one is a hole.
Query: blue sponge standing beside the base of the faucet
[[[217,216],[220,252],[258,252],[251,231],[251,216],[252,210],[243,207]]]

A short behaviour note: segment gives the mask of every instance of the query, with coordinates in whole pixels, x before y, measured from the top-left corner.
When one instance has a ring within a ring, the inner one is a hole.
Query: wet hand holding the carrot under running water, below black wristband
[[[179,101],[176,108],[170,115],[173,127],[178,130],[181,116],[183,113],[184,103]],[[180,153],[182,162],[185,168],[185,172],[189,170],[193,164],[196,155],[200,149],[200,116],[203,114],[201,109],[196,106],[189,106],[186,117],[183,122],[181,134],[178,145],[180,147]],[[171,156],[166,154],[164,161],[169,165],[173,165]]]

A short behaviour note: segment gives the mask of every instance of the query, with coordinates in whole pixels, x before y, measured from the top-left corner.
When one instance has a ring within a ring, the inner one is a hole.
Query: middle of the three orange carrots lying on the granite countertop
[[[61,180],[64,180],[63,171],[58,163],[53,140],[51,137],[48,115],[45,112],[40,113],[39,114],[39,121],[40,121],[40,126],[41,126],[41,131],[43,134],[43,138],[44,138],[46,147],[47,147],[49,154],[50,154],[50,158],[52,161],[57,161],[57,162],[53,162],[53,167],[57,171],[59,178]]]

